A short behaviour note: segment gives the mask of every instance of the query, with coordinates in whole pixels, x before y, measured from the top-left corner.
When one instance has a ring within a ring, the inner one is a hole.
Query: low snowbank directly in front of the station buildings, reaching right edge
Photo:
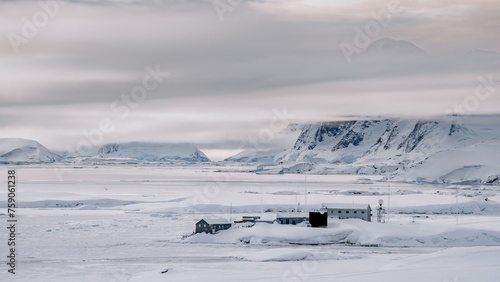
[[[212,234],[196,234],[190,243],[245,244],[354,244],[384,247],[499,246],[500,232],[450,227],[431,223],[365,222],[359,219],[330,220],[329,228],[258,223],[234,226]]]

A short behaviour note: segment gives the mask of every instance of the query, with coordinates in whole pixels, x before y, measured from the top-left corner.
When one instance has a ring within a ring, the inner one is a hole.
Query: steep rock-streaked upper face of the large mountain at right
[[[488,137],[455,121],[385,119],[316,123],[304,128],[283,160],[350,164],[408,154],[415,159],[480,140]]]

